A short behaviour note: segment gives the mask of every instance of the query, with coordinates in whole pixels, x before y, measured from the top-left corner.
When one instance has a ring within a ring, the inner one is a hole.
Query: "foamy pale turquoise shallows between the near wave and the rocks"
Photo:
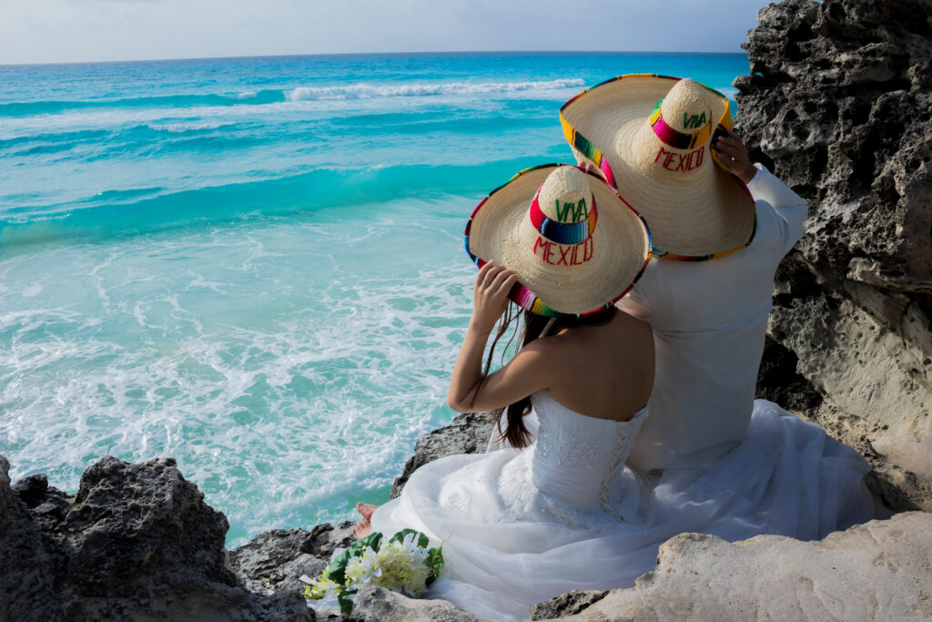
[[[450,417],[474,268],[459,218],[381,207],[4,258],[11,475],[74,491],[107,453],[173,456],[231,546],[385,495]],[[23,301],[26,283],[41,290]]]

